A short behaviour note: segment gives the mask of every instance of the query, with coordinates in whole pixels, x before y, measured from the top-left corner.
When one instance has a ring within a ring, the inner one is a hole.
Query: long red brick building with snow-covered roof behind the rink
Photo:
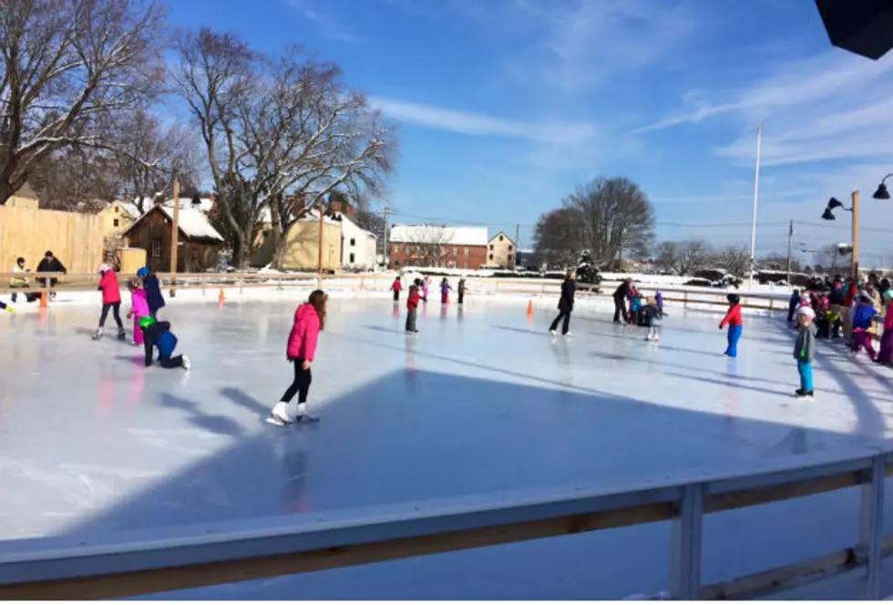
[[[389,269],[479,269],[487,264],[486,227],[394,225],[389,241]]]

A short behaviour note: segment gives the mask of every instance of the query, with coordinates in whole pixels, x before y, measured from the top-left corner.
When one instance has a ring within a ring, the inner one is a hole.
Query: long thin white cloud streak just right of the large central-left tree
[[[549,143],[584,143],[596,135],[590,122],[523,121],[457,111],[392,98],[372,97],[373,106],[398,121],[466,135],[522,138]]]

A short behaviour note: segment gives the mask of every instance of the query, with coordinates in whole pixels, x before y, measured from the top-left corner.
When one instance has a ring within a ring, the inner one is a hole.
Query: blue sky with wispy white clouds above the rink
[[[747,243],[765,122],[759,252],[848,241],[826,200],[862,191],[863,264],[893,262],[893,58],[833,48],[811,0],[177,0],[275,52],[339,63],[399,127],[387,203],[514,231],[599,175],[637,181],[662,239]],[[679,225],[678,223],[685,223]],[[703,226],[692,226],[702,223]],[[812,223],[812,224],[806,224]],[[727,225],[727,226],[717,226]],[[800,243],[803,243],[801,246]]]

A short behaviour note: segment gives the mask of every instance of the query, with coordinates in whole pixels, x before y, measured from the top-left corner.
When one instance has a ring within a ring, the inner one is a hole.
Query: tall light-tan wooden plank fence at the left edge
[[[47,250],[68,272],[91,273],[102,262],[102,246],[95,215],[0,206],[0,273],[12,271],[19,256],[34,271]]]

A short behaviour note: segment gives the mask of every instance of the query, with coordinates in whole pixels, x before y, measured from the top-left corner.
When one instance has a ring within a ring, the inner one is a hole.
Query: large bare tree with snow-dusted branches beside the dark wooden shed
[[[295,49],[271,60],[201,29],[180,37],[175,79],[199,124],[236,266],[249,259],[264,208],[281,266],[286,233],[305,210],[336,188],[354,200],[381,192],[393,138],[336,67]]]

